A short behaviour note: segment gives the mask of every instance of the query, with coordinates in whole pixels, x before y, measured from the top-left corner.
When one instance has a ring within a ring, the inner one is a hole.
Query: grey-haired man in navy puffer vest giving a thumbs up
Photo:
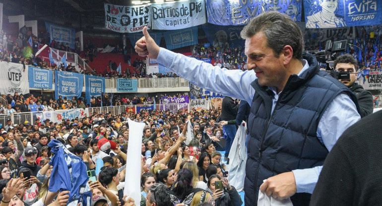
[[[319,71],[314,56],[303,56],[296,23],[279,12],[253,18],[241,33],[248,56],[244,72],[160,48],[146,28],[143,34],[135,46],[139,55],[157,59],[194,85],[251,103],[246,206],[257,205],[259,190],[290,197],[294,206],[309,205],[326,155],[360,115],[354,94]]]

